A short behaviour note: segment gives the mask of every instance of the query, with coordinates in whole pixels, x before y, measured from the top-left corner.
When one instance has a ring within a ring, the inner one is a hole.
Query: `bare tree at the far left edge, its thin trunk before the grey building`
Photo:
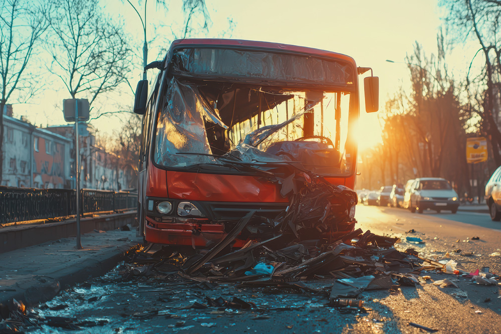
[[[27,69],[47,26],[41,12],[28,2],[5,0],[0,8],[0,183],[4,166],[4,109],[13,93],[24,91],[30,97],[38,90]]]

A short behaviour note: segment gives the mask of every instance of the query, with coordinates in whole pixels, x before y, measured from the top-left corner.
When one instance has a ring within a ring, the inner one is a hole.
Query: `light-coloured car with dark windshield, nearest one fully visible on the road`
[[[457,212],[459,201],[457,193],[452,189],[449,181],[438,177],[422,177],[414,181],[411,186],[409,209],[411,212],[423,213],[431,209],[436,212],[450,210]]]

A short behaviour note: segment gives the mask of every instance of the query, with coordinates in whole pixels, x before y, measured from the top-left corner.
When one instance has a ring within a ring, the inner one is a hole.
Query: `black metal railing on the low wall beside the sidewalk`
[[[137,209],[137,193],[81,190],[81,215]],[[0,226],[20,221],[51,219],[76,214],[75,190],[0,186]]]

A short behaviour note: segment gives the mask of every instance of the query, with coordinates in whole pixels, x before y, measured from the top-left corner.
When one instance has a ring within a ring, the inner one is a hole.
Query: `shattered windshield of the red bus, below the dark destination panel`
[[[154,160],[170,168],[228,161],[352,172],[348,92],[284,90],[171,79],[159,99]]]

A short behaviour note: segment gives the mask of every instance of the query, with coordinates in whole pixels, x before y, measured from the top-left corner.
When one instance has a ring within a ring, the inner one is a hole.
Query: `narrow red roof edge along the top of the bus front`
[[[353,64],[356,67],[355,60],[350,56],[346,56],[343,54],[339,54],[336,52],[307,48],[307,47],[299,47],[295,45],[281,44],[281,43],[272,43],[272,42],[258,42],[258,41],[246,41],[246,40],[229,40],[229,39],[184,39],[184,40],[175,40],[172,42],[170,48],[178,47],[178,46],[236,46],[236,47],[244,47],[244,48],[264,48],[264,49],[275,49],[275,50],[285,50],[289,52],[298,52],[303,54],[315,55],[320,57],[328,57],[335,59],[342,59]]]

